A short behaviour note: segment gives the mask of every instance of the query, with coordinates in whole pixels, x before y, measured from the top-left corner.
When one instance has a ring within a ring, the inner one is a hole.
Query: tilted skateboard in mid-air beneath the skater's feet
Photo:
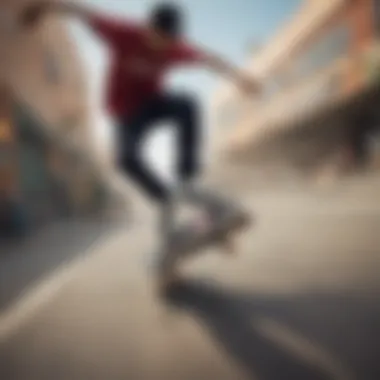
[[[178,266],[185,259],[212,247],[234,253],[236,238],[251,222],[252,218],[247,212],[235,209],[225,210],[219,215],[213,228],[205,233],[199,233],[189,225],[177,228],[167,249],[162,252],[162,266],[158,275],[160,292],[165,293],[173,285],[181,282]]]

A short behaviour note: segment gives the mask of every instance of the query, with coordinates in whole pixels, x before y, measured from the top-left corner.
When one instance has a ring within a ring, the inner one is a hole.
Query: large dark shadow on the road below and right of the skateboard
[[[234,294],[185,282],[167,295],[259,379],[380,378],[380,307],[375,295]]]

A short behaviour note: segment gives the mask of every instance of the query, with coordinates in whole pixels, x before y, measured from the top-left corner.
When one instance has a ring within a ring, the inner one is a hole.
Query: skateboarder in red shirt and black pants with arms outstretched
[[[171,191],[141,158],[141,145],[154,125],[174,122],[179,159],[177,171],[184,192],[200,174],[201,125],[196,100],[163,89],[165,74],[180,65],[197,64],[224,74],[243,91],[253,94],[259,84],[222,59],[185,39],[181,9],[173,4],[156,5],[145,23],[115,19],[91,8],[66,1],[32,4],[21,14],[25,27],[38,24],[48,12],[78,17],[110,48],[111,70],[107,86],[107,108],[116,124],[118,164],[124,173],[170,215]],[[206,213],[207,214],[207,213]],[[207,226],[207,215],[199,226]]]

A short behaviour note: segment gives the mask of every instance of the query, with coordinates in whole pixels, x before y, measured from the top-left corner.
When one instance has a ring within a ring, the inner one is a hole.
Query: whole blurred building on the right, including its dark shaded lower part
[[[377,8],[370,1],[300,4],[246,59],[247,70],[264,78],[264,99],[244,103],[228,86],[217,93],[217,150],[247,163],[265,157],[307,174],[375,169]]]

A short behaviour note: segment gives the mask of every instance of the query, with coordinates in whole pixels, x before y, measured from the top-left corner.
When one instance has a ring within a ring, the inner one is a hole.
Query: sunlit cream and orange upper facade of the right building
[[[225,85],[215,96],[214,149],[244,155],[263,138],[369,86],[379,72],[379,3],[308,0],[249,59],[264,83],[256,100]]]

